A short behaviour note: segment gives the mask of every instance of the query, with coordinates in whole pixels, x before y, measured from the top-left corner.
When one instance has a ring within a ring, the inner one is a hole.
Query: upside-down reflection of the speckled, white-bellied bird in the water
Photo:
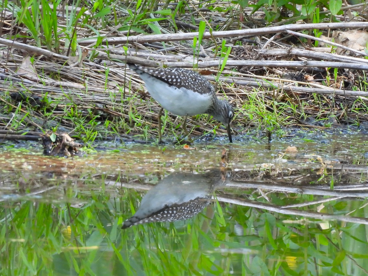
[[[210,203],[213,191],[225,185],[229,177],[230,171],[224,167],[204,174],[174,172],[146,193],[137,212],[123,222],[122,228],[191,218]]]

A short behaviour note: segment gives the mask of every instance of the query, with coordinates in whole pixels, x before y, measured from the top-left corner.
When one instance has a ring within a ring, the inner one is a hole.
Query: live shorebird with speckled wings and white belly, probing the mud
[[[151,68],[133,63],[127,63],[145,82],[147,91],[163,109],[184,116],[183,129],[188,135],[187,116],[209,114],[219,120],[227,130],[230,143],[230,122],[234,110],[230,103],[216,97],[213,85],[203,76],[193,70],[183,68]],[[161,142],[161,113],[159,112],[159,143]]]

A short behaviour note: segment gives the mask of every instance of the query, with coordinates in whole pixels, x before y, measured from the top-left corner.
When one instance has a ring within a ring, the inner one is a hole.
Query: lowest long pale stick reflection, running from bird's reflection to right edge
[[[220,202],[227,202],[227,203],[237,204],[240,206],[260,208],[263,210],[273,211],[273,212],[280,213],[280,214],[300,215],[303,217],[322,219],[322,220],[339,220],[339,221],[346,221],[346,222],[359,223],[359,224],[368,224],[368,218],[347,217],[343,215],[330,215],[330,214],[307,212],[307,211],[300,211],[300,210],[294,210],[294,209],[288,209],[288,208],[283,209],[282,206],[265,204],[265,203],[260,203],[256,201],[239,200],[239,199],[227,198],[227,197],[222,197],[222,196],[217,196],[216,198]]]

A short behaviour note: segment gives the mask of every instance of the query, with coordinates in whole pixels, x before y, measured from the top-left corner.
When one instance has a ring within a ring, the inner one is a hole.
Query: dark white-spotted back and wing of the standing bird
[[[215,93],[213,85],[193,70],[184,68],[151,68],[130,63],[128,66],[140,76],[148,74],[170,86],[185,87],[201,94]]]

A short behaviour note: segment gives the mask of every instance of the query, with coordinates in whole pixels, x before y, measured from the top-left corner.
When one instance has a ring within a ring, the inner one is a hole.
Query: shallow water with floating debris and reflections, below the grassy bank
[[[367,140],[104,144],[73,159],[3,146],[0,274],[367,275]],[[121,229],[153,187],[137,214],[204,209]]]

